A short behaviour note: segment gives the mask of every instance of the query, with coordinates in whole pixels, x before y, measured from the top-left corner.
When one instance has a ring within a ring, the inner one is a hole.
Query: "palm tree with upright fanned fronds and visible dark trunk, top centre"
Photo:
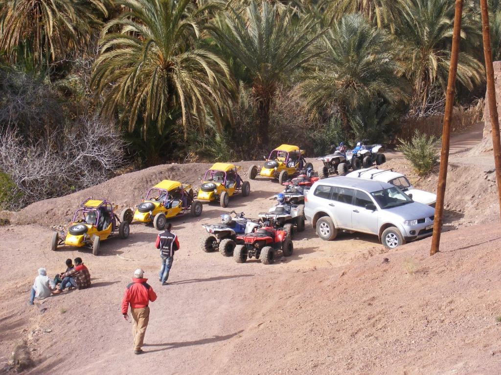
[[[229,7],[212,28],[215,38],[248,71],[259,116],[258,140],[264,146],[278,83],[318,54],[311,48],[320,35],[317,22],[311,16],[297,17],[291,8],[252,1],[241,12]]]

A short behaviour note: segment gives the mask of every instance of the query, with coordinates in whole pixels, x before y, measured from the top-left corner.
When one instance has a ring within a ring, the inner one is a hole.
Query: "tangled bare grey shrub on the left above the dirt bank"
[[[17,209],[101,183],[123,163],[124,144],[111,124],[81,119],[64,131],[27,143],[14,130],[0,135],[0,171],[21,192],[9,202]]]

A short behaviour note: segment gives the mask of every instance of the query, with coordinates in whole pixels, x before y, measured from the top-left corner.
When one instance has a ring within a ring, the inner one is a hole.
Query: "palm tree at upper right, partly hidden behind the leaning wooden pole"
[[[454,2],[406,0],[400,6],[396,35],[401,40],[400,60],[413,84],[414,100],[427,105],[434,85],[447,85],[454,20]],[[461,23],[457,79],[467,89],[482,80],[483,66],[474,56],[481,40],[478,11],[467,1]]]

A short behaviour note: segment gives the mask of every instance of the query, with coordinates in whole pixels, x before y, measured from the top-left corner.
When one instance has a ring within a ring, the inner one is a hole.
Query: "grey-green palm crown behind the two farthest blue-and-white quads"
[[[394,104],[407,99],[407,83],[394,57],[394,43],[360,13],[341,18],[324,38],[326,52],[311,64],[299,93],[312,117],[333,106],[343,125],[349,113],[380,98]]]

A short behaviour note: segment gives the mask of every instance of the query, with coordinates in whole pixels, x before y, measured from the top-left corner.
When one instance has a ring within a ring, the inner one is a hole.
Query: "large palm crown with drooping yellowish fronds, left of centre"
[[[120,109],[129,130],[141,113],[143,136],[156,122],[161,133],[173,111],[203,131],[208,112],[219,129],[231,87],[224,61],[197,46],[207,7],[190,0],[119,0],[123,11],[102,32],[92,84],[105,93],[102,112]],[[129,9],[129,10],[127,10]]]

